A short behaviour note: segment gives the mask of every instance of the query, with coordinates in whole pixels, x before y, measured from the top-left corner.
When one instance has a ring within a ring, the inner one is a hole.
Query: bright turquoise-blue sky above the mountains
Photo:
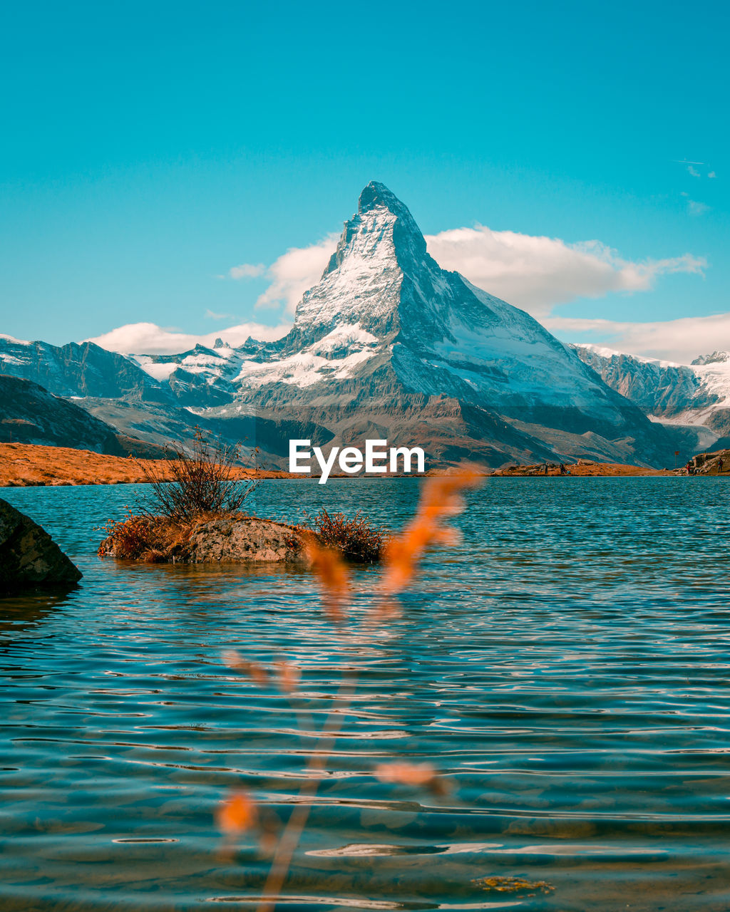
[[[725,3],[5,4],[0,332],[282,325],[283,299],[255,306],[274,274],[229,270],[339,231],[375,179],[424,233],[497,233],[486,257],[515,233],[552,294],[533,306],[519,275],[496,292],[560,337],[730,347],[729,18]],[[620,280],[573,283],[587,241]]]

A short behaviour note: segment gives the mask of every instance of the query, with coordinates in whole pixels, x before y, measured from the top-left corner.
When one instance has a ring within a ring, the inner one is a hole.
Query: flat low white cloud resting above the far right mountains
[[[617,351],[689,364],[698,355],[730,350],[730,313],[683,316],[677,320],[631,323],[563,316],[543,321],[547,329],[573,342],[600,342]]]

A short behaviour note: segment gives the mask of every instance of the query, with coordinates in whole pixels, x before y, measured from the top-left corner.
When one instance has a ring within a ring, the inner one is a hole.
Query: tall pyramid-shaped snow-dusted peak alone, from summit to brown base
[[[376,182],[286,337],[139,361],[235,388],[206,418],[296,417],[336,442],[420,443],[437,461],[651,462],[670,447],[531,316],[435,263],[411,212]]]

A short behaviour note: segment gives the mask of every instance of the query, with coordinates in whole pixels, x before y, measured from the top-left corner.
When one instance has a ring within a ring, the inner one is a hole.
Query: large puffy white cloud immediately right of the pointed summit
[[[429,253],[445,269],[535,316],[576,297],[647,291],[659,275],[702,273],[691,254],[662,260],[624,260],[600,241],[567,244],[559,238],[495,232],[476,225],[426,236]]]

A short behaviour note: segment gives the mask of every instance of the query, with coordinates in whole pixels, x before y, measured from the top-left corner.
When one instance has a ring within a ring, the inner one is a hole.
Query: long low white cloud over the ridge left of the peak
[[[218,337],[232,347],[242,345],[249,336],[267,342],[286,335],[290,328],[289,324],[264,326],[260,323],[241,323],[214,333],[195,335],[176,329],[165,329],[155,323],[128,323],[126,326],[112,329],[109,333],[83,341],[95,342],[102,348],[118,351],[122,355],[176,355],[198,343],[213,347]]]

